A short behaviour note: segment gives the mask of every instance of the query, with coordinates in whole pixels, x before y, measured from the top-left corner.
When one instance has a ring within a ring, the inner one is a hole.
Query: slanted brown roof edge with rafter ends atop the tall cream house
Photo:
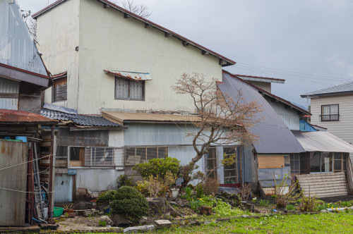
[[[55,1],[53,4],[47,6],[46,8],[43,8],[42,10],[38,11],[37,13],[32,15],[32,18],[37,18],[39,16],[41,16],[42,14],[46,13],[47,11],[50,11],[52,8],[55,8],[56,6],[59,6],[59,4],[64,3],[64,1],[68,1],[68,0],[59,0],[59,1]],[[165,33],[165,37],[175,37],[179,40],[181,40],[181,42],[183,42],[183,44],[186,45],[192,45],[193,47],[196,47],[198,49],[201,49],[202,54],[206,55],[206,54],[211,54],[217,58],[220,58],[220,65],[222,66],[231,66],[234,65],[235,62],[230,60],[229,58],[226,58],[225,56],[222,56],[220,54],[215,53],[214,51],[211,51],[210,49],[207,49],[203,46],[201,46],[200,44],[197,44],[196,42],[193,42],[185,37],[182,37],[181,35],[177,34],[176,32],[172,32],[171,30],[167,30],[167,28],[162,27],[160,25],[157,25],[156,23],[151,22],[150,20],[147,20],[145,18],[142,18],[140,16],[137,16],[136,14],[127,11],[124,8],[121,8],[120,6],[117,6],[116,4],[113,4],[110,1],[107,0],[97,0],[100,3],[104,4],[104,6],[108,6],[108,7],[112,7],[114,9],[116,9],[117,11],[120,11],[121,13],[124,13],[125,17],[131,17],[131,18],[135,18],[136,20],[139,20],[143,23],[145,23],[145,27],[154,27],[157,30],[161,30],[162,32]]]

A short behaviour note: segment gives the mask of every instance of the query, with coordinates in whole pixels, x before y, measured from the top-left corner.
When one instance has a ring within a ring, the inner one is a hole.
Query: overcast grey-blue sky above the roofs
[[[121,3],[121,0],[117,0]],[[32,12],[52,0],[18,0]],[[285,79],[273,94],[300,94],[353,81],[353,0],[136,0],[154,23],[236,61],[229,72]]]

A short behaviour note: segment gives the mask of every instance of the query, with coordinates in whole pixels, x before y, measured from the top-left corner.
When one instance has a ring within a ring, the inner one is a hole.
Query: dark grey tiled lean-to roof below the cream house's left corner
[[[119,123],[103,118],[102,116],[90,116],[90,115],[75,115],[71,113],[64,113],[60,111],[52,111],[48,109],[42,109],[40,111],[42,116],[52,118],[58,121],[72,121],[76,125],[90,126],[90,127],[121,127]]]

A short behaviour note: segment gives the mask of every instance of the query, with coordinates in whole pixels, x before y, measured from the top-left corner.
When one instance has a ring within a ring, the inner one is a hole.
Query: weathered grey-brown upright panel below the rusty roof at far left
[[[25,225],[26,161],[28,143],[0,140],[0,226]]]

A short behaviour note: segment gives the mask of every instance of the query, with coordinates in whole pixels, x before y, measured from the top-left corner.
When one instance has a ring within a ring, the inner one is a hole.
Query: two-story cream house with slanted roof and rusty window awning
[[[71,201],[80,188],[113,189],[117,176],[152,158],[189,163],[195,152],[185,135],[196,110],[171,86],[182,73],[221,80],[222,67],[234,61],[105,0],[56,1],[33,17],[43,59],[58,74],[42,114],[76,125],[83,115],[118,124],[59,127],[56,162],[66,170],[56,173],[56,186],[65,186],[56,187],[56,201]],[[224,147],[213,147],[201,170]],[[238,182],[232,175],[227,181]]]

